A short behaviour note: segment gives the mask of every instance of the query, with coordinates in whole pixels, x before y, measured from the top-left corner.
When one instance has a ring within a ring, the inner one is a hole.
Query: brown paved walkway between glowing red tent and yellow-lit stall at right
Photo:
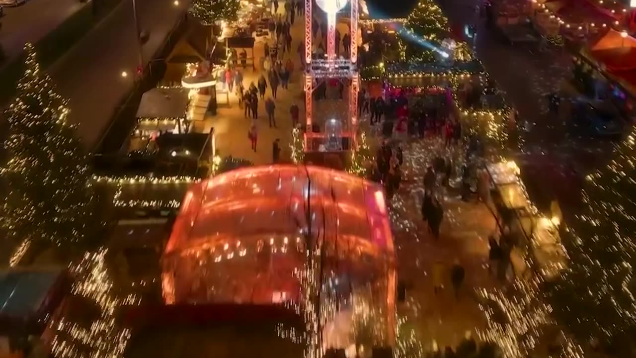
[[[485,327],[474,290],[500,282],[488,273],[488,236],[495,233],[495,220],[481,203],[466,203],[457,189],[443,197],[444,220],[435,240],[420,215],[424,173],[437,155],[449,152],[436,137],[404,145],[403,183],[392,205],[392,229],[397,247],[398,277],[407,285],[406,303],[398,306],[425,349],[435,341],[439,347],[455,347],[467,331]],[[460,167],[459,163],[456,163]],[[464,287],[455,298],[450,269],[455,262],[466,269]],[[434,293],[432,267],[443,266],[445,289]]]

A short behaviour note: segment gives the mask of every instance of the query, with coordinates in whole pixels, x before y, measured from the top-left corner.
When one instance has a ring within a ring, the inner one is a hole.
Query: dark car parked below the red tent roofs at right
[[[581,131],[591,136],[620,137],[626,127],[618,110],[584,101],[574,103],[572,120]]]

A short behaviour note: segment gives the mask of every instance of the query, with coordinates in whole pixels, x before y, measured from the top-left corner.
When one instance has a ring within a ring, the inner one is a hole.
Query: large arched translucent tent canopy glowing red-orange
[[[389,327],[378,339],[392,340],[396,277],[382,187],[333,169],[251,167],[193,185],[165,248],[166,303],[300,302],[294,271],[307,257],[308,194],[311,237],[324,242],[324,299],[347,297],[338,320],[375,315]],[[349,332],[330,332],[327,341],[347,345]]]

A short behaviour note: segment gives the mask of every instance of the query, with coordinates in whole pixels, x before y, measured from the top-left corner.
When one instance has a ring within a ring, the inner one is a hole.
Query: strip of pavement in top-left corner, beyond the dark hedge
[[[82,6],[90,6],[90,3],[30,0],[20,6],[4,6],[4,16],[0,18],[0,45],[5,55],[11,58],[20,54],[25,43],[38,42]]]

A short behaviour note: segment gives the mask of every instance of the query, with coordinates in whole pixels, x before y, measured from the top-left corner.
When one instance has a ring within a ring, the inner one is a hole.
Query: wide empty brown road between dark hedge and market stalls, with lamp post
[[[143,45],[144,62],[154,57],[189,3],[137,0],[140,28],[150,34]],[[48,69],[58,92],[69,99],[69,119],[79,125],[79,138],[88,150],[132,90],[138,58],[132,2],[125,0]],[[130,75],[123,78],[122,71]]]

